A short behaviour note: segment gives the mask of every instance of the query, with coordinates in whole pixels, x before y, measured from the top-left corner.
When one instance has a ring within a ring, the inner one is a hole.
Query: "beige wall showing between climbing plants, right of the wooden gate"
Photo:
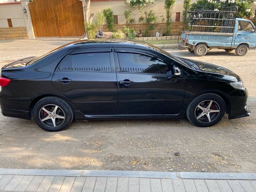
[[[195,2],[196,0],[192,0]],[[111,8],[113,15],[118,15],[118,24],[125,24],[124,10],[129,9],[128,5],[124,6],[124,1],[111,1],[111,2],[93,2],[91,1],[90,11],[97,13],[97,10],[103,11],[103,9]],[[172,8],[172,21],[175,21],[175,13],[183,11],[183,0],[176,0]],[[139,11],[138,7],[131,8],[132,17],[138,21],[140,15],[144,15],[144,11],[154,10],[157,15],[158,22],[161,21],[161,15],[165,17],[164,0],[156,0],[156,4],[147,3],[147,6],[142,8],[142,12]]]

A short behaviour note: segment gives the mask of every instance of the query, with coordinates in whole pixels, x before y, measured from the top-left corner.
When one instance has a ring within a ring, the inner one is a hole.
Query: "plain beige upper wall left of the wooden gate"
[[[0,28],[8,27],[7,19],[12,27],[26,27],[21,4],[0,5]]]

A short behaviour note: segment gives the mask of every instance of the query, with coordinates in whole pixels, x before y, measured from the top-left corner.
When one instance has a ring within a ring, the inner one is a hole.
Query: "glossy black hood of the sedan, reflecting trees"
[[[222,78],[229,79],[232,81],[241,81],[241,78],[238,75],[236,75],[233,71],[230,71],[227,68],[214,65],[211,63],[202,62],[202,61],[196,61],[196,60],[190,60],[190,59],[185,59],[185,60],[189,60],[193,63],[196,63],[196,65],[199,67],[199,70],[202,72],[209,72],[209,73],[214,73],[218,75],[223,75]]]

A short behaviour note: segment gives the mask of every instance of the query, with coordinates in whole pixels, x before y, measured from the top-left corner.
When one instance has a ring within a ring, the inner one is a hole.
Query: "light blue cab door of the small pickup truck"
[[[256,33],[250,21],[238,20],[238,30],[236,32],[235,45],[248,43],[250,48],[256,46]]]

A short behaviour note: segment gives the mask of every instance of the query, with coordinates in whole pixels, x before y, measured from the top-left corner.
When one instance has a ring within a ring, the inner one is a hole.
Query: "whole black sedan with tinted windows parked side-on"
[[[5,65],[2,114],[46,131],[73,119],[185,118],[200,127],[250,115],[232,71],[127,40],[76,41]]]

